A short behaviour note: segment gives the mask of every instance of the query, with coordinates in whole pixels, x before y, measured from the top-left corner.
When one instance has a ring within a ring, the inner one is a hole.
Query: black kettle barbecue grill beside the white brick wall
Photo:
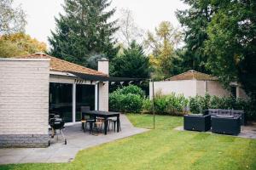
[[[65,122],[59,115],[55,115],[53,118],[49,119],[49,126],[51,127],[51,132],[52,132],[51,138],[55,137],[56,130],[60,130],[61,136],[64,139],[65,144],[67,144],[67,139],[64,133],[62,132],[62,129],[65,128],[64,125],[65,125]],[[58,140],[58,135],[57,135],[57,140]]]

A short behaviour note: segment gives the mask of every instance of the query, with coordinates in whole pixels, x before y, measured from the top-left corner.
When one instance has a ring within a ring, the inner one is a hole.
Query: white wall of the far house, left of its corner
[[[183,94],[185,97],[196,95],[196,81],[182,80],[182,81],[165,81],[154,82],[154,94],[161,92],[161,94]],[[149,83],[149,98],[152,99],[152,82]]]

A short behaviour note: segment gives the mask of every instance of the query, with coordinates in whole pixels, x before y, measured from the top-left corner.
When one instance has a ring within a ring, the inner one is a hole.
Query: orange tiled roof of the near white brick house
[[[86,68],[84,66],[76,65],[76,64],[73,64],[66,60],[58,59],[58,58],[55,58],[55,57],[49,56],[48,54],[43,54],[43,53],[18,56],[15,58],[18,58],[18,59],[50,59],[50,61],[49,61],[49,70],[50,71],[61,71],[61,72],[73,71],[73,72],[79,72],[79,73],[90,74],[90,75],[107,76],[106,74],[104,74],[100,71],[95,71],[95,70]]]

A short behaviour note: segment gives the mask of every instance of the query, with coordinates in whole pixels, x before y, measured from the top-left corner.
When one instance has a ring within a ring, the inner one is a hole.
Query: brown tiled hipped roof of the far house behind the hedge
[[[167,78],[166,81],[177,81],[177,80],[218,80],[217,77],[198,72],[198,71],[187,71],[182,74],[179,74],[175,77]]]

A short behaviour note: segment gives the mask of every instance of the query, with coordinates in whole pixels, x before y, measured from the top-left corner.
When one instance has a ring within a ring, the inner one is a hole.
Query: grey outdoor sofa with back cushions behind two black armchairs
[[[241,125],[246,125],[246,117],[244,114],[244,111],[238,111],[238,110],[222,110],[222,109],[208,109],[205,111],[205,114],[211,115],[211,116],[239,116]]]

